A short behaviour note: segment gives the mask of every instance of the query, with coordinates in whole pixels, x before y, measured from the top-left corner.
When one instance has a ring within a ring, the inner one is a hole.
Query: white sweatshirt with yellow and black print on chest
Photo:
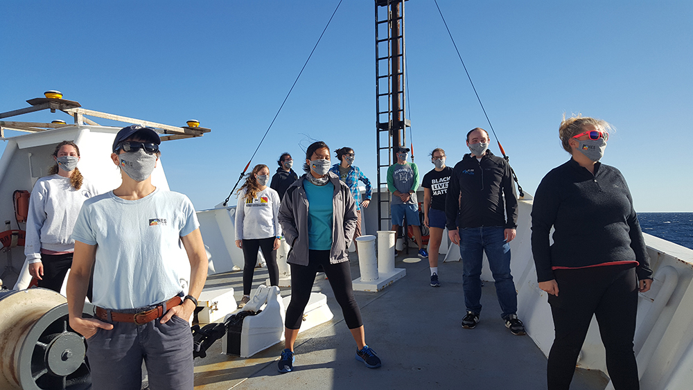
[[[279,194],[270,187],[245,199],[247,188],[238,194],[236,206],[236,240],[257,240],[281,236]]]

